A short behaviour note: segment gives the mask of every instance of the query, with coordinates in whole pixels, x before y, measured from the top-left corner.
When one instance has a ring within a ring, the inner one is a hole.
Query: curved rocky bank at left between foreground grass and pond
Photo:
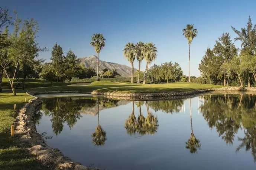
[[[37,133],[33,119],[41,104],[42,100],[35,97],[30,99],[20,109],[15,130],[15,137],[19,139],[20,146],[29,148],[29,152],[35,155],[37,160],[49,170],[99,170],[97,168],[82,166],[69,157],[65,157],[58,149],[53,149],[46,145],[42,136]]]

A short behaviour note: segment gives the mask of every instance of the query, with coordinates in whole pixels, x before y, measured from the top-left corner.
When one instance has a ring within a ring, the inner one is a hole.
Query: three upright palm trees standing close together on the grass
[[[138,77],[137,83],[140,83],[140,76],[139,76],[140,75],[140,64],[143,59],[146,60],[146,71],[145,71],[144,80],[143,80],[143,84],[146,84],[146,78],[147,78],[147,74],[148,74],[148,66],[150,63],[152,63],[153,60],[156,59],[156,55],[157,55],[157,49],[156,49],[155,44],[153,44],[151,42],[143,43],[142,41],[140,41],[137,44],[126,43],[124,46],[123,52],[124,52],[124,57],[126,57],[132,65],[131,83],[133,83],[133,77],[134,77],[133,62],[135,61],[135,58],[139,62],[139,74],[137,75],[137,77]]]

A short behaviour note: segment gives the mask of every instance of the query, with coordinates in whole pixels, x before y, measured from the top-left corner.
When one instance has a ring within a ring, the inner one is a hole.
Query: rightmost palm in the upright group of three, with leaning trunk
[[[149,67],[149,64],[153,60],[156,59],[157,49],[155,47],[155,44],[146,43],[142,51],[143,51],[144,58],[146,59],[146,71],[145,71],[145,76],[144,76],[144,81],[143,81],[143,84],[146,84],[146,78],[147,78],[147,74],[148,74],[148,67]]]

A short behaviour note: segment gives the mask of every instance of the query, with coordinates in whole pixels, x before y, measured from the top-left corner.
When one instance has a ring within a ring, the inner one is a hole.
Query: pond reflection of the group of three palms
[[[135,133],[139,133],[140,135],[145,134],[154,134],[158,129],[158,118],[149,111],[149,105],[146,102],[146,108],[148,111],[148,115],[146,118],[142,115],[141,106],[144,102],[139,101],[136,102],[137,107],[139,107],[139,116],[136,118],[134,114],[134,101],[132,102],[132,113],[128,119],[124,122],[124,128],[126,129],[127,133],[130,135],[134,135]]]

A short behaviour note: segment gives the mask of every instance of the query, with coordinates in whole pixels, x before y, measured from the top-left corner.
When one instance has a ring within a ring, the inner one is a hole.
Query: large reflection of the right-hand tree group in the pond
[[[204,103],[200,110],[209,127],[216,127],[221,139],[230,145],[233,144],[238,130],[243,128],[244,137],[238,137],[241,143],[236,152],[245,148],[252,153],[256,162],[256,98],[243,93],[205,95],[203,98]]]

